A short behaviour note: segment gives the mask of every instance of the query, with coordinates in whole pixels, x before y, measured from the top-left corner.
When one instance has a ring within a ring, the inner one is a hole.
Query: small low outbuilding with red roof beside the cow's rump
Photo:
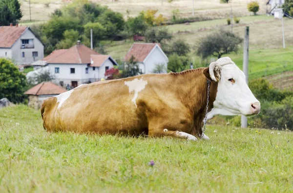
[[[41,108],[43,100],[57,96],[63,92],[66,92],[65,88],[55,85],[51,82],[42,82],[33,88],[30,88],[24,94],[28,95],[30,107],[39,109]]]

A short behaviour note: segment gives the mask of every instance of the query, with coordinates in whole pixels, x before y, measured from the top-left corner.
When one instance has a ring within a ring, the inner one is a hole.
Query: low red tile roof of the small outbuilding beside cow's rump
[[[29,95],[47,95],[47,94],[61,94],[63,92],[66,92],[67,90],[65,88],[62,88],[58,85],[55,85],[51,82],[42,82],[33,88],[30,88],[24,94]]]

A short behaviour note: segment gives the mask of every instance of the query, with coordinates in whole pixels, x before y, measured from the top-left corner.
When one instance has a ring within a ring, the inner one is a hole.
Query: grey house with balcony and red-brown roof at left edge
[[[31,64],[44,55],[44,45],[26,26],[0,26],[0,57]]]

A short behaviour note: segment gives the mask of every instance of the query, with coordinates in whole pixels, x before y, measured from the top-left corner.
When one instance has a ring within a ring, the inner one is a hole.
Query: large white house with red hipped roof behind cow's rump
[[[31,71],[26,77],[29,79],[35,73],[49,70],[55,83],[75,88],[105,78],[105,71],[115,65],[117,63],[111,56],[99,54],[78,42],[69,49],[55,50],[42,61],[35,63],[35,69],[42,66],[44,68]]]

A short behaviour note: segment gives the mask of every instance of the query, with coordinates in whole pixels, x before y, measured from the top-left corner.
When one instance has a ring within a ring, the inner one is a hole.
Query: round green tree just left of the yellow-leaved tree
[[[130,35],[145,35],[148,25],[142,15],[135,18],[129,18],[126,22],[126,28]]]

